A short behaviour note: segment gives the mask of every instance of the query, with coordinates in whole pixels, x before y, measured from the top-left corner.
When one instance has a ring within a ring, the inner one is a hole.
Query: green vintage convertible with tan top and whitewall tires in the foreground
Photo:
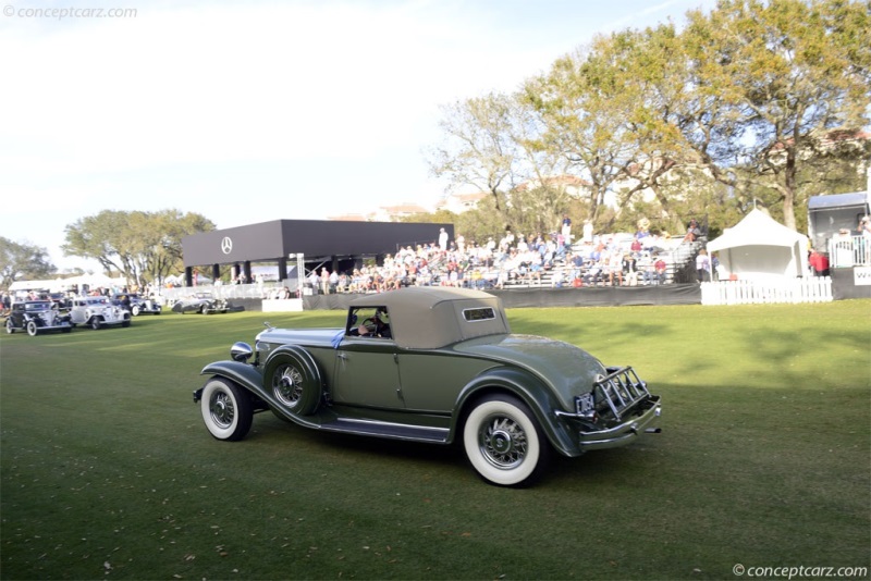
[[[194,392],[218,440],[255,412],[299,425],[431,444],[462,443],[502,486],[533,482],[552,450],[575,457],[659,432],[660,397],[630,367],[564,342],[511,333],[501,300],[409,287],[351,301],[344,329],[267,329],[206,366]],[[252,357],[254,358],[253,361]]]

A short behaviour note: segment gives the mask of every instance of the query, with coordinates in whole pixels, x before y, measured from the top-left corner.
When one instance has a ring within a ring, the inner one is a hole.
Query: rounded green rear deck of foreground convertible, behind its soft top
[[[580,347],[537,335],[482,337],[458,343],[454,350],[525,368],[551,385],[564,404],[608,374],[602,362]]]

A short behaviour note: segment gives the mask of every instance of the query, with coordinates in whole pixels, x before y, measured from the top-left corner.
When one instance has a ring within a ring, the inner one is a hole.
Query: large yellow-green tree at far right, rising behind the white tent
[[[736,195],[774,191],[784,223],[795,228],[802,165],[868,156],[867,140],[843,138],[868,123],[868,5],[721,0],[710,14],[691,11],[688,18],[682,85],[691,87],[694,103],[716,108],[685,109],[682,133]]]

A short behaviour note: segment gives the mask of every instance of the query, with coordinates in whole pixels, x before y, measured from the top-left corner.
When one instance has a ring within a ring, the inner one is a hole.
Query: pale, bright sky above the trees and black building
[[[447,186],[426,160],[441,106],[511,92],[597,34],[714,4],[9,0],[0,236],[98,270],[60,247],[102,210],[226,228],[431,207]]]

